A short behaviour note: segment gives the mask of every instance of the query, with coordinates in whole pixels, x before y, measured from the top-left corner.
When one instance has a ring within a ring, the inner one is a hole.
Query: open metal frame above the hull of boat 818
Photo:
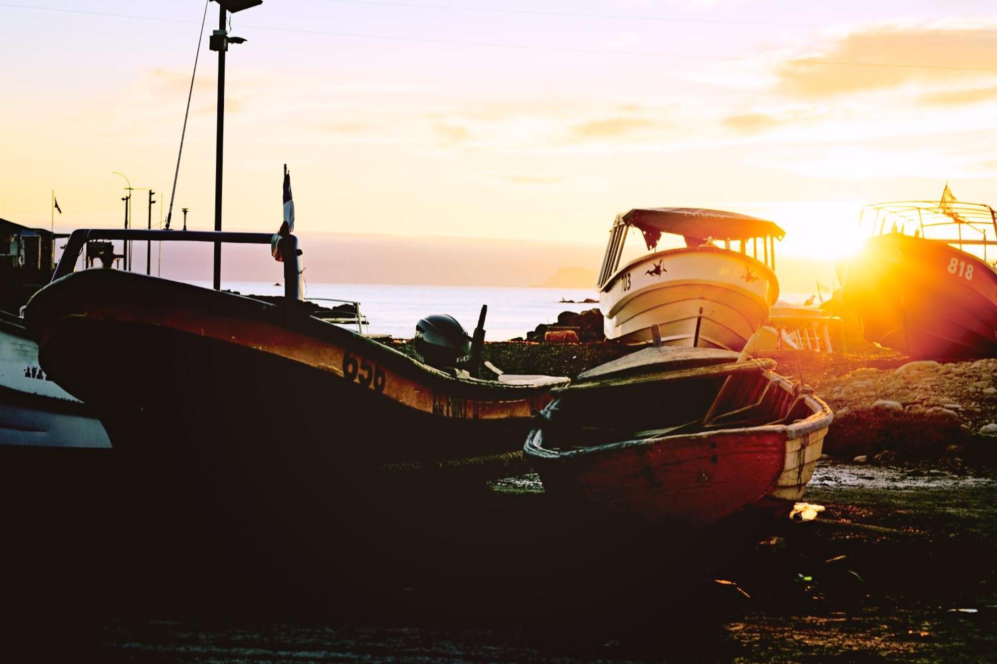
[[[876,203],[862,208],[859,228],[866,236],[902,233],[923,237],[986,262],[997,261],[997,213],[984,203],[965,203],[952,197]]]

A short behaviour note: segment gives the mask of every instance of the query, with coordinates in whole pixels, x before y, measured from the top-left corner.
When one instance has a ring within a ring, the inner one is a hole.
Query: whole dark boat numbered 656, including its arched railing
[[[191,233],[155,239],[214,235]],[[281,456],[302,464],[504,458],[550,388],[567,382],[443,371],[308,315],[293,297],[273,304],[119,270],[72,272],[73,250],[109,234],[126,233],[74,233],[25,318],[46,372],[97,410],[123,451],[138,445],[126,433],[138,425],[165,444],[139,436],[144,455],[209,454],[253,469],[270,463],[278,441]],[[141,360],[123,379],[99,371],[111,354]]]

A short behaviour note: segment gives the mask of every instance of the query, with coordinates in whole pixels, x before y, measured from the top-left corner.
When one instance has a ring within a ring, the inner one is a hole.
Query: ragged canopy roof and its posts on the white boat
[[[720,241],[724,242],[725,248],[730,249],[731,242],[736,241],[740,243],[741,253],[747,252],[748,240],[754,239],[753,255],[758,258],[758,238],[761,237],[764,261],[773,269],[775,240],[781,240],[786,235],[786,231],[773,221],[738,212],[703,207],[635,207],[625,214],[617,214],[609,231],[609,244],[606,246],[597,284],[600,289],[619,267],[623,244],[631,226],[643,233],[648,251],[654,251],[663,233],[670,233],[681,235],[686,246]]]

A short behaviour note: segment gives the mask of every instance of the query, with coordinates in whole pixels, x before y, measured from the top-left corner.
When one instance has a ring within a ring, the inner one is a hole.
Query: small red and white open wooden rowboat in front
[[[555,393],[526,440],[544,490],[624,517],[703,527],[744,509],[789,514],[831,410],[772,360],[648,348]]]

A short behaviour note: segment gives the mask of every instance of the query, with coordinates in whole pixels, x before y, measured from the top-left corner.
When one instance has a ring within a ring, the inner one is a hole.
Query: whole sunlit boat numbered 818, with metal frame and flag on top
[[[870,237],[838,277],[865,339],[917,358],[997,356],[992,207],[946,186],[937,202],[867,205],[859,224]]]

